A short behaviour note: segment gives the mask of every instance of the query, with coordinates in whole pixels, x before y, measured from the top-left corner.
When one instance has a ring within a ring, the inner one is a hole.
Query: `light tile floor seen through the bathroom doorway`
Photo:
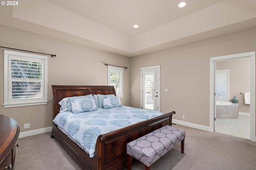
[[[238,115],[238,119],[216,119],[215,131],[250,139],[250,116]]]

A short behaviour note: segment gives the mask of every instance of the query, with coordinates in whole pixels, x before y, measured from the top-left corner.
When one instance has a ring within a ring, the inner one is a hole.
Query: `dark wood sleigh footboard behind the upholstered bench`
[[[126,144],[160,127],[172,125],[172,114],[175,112],[100,135],[97,140],[99,147],[96,148],[101,148],[101,168],[104,170],[124,168],[127,165]]]

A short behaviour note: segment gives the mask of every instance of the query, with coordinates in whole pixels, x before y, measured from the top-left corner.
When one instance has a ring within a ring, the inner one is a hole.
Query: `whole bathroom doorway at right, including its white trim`
[[[212,57],[210,69],[210,128],[255,142],[255,51]],[[221,95],[227,94],[220,95],[220,87],[216,88],[217,70],[229,70],[229,76],[224,76],[224,82],[228,83],[224,83],[224,89],[229,89],[226,99]],[[247,92],[250,93],[250,105],[244,101]],[[237,103],[232,103],[234,96]]]

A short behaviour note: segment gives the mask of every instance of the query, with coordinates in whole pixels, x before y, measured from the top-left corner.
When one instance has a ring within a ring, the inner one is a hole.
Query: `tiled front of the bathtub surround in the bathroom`
[[[216,105],[216,119],[237,119],[238,103],[231,105]]]

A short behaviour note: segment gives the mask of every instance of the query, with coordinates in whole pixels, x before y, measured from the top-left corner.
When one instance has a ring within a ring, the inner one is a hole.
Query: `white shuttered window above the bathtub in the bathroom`
[[[216,71],[216,100],[229,101],[229,70]]]

